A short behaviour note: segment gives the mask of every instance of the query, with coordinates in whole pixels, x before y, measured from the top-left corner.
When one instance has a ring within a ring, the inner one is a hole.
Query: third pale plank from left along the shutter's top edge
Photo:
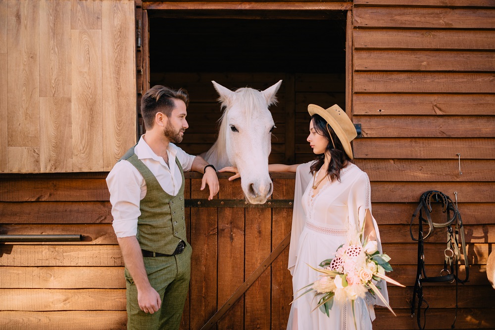
[[[70,0],[40,1],[40,96],[70,97]]]

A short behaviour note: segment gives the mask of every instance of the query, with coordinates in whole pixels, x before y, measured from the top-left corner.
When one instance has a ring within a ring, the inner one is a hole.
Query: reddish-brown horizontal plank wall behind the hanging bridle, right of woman
[[[459,286],[456,329],[494,329],[486,262],[495,242],[495,2],[354,0],[352,14],[352,120],[363,135],[354,155],[371,180],[392,276],[407,285],[391,288],[397,318],[388,320],[417,327],[409,310],[417,245],[408,224],[421,193],[436,189],[453,200],[457,192],[472,265]],[[425,247],[429,276],[444,260],[446,235],[435,233]],[[424,293],[427,329],[449,329],[454,284]]]

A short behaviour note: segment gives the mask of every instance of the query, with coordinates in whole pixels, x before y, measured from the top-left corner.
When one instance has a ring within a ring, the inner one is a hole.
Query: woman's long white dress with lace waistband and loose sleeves
[[[327,182],[313,195],[312,162],[297,168],[293,229],[289,252],[289,270],[293,275],[294,297],[304,290],[302,287],[317,280],[321,273],[317,268],[323,260],[333,258],[337,248],[347,240],[349,230],[357,230],[365,218],[366,209],[371,212],[370,184],[368,176],[356,165],[349,163],[341,170],[340,181]],[[305,186],[305,187],[304,187]],[[304,188],[303,188],[304,187]],[[304,190],[303,190],[304,189]],[[301,196],[302,195],[302,196]],[[373,219],[381,249],[380,235]],[[382,294],[388,299],[385,281],[380,283]],[[352,330],[355,329],[351,302],[340,306],[334,302],[327,317],[315,309],[318,299],[308,293],[293,302],[287,325],[288,330]],[[372,329],[373,304],[379,303],[371,296],[355,301],[355,316],[358,330]]]

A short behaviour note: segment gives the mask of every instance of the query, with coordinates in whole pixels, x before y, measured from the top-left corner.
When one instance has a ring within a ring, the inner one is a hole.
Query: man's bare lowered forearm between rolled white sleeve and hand
[[[136,236],[117,237],[124,263],[138,289],[149,286],[143,254]]]

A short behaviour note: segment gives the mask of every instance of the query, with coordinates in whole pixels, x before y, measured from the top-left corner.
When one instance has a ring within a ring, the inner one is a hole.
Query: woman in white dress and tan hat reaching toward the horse
[[[377,240],[381,251],[376,221],[371,214],[368,176],[351,163],[350,141],[356,136],[354,125],[337,104],[323,109],[308,106],[311,121],[309,136],[316,160],[300,165],[270,164],[270,172],[296,172],[292,236],[289,251],[289,270],[293,275],[294,297],[303,288],[319,279],[319,272],[311,269],[323,260],[333,258],[337,248],[347,240],[349,230],[363,226],[368,240]],[[220,172],[237,172],[227,167]],[[239,174],[229,180],[238,178]],[[379,285],[388,299],[385,281]],[[314,310],[317,300],[312,294],[296,299],[291,305],[288,330],[354,329],[350,301],[334,303],[330,317]],[[372,329],[373,304],[379,304],[367,295],[355,301],[357,329]],[[314,311],[313,311],[314,310]]]

